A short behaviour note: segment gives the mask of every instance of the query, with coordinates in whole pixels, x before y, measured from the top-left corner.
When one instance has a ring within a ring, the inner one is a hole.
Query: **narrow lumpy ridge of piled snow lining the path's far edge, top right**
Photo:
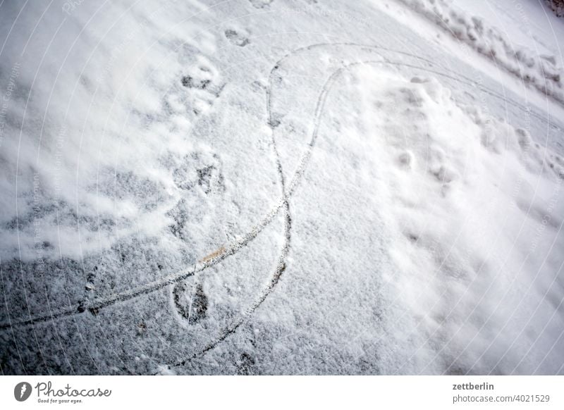
[[[556,57],[515,44],[484,18],[470,15],[447,0],[400,1],[509,73],[564,103],[564,69],[556,65]]]

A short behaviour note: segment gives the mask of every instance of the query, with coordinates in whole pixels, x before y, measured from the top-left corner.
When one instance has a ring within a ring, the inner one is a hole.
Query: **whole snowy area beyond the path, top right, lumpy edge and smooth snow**
[[[560,27],[561,24],[552,24],[553,20],[557,19],[556,16],[550,11],[547,13],[540,1],[527,6],[534,8],[534,13],[527,13],[527,7],[516,0],[498,1],[495,7],[489,1],[476,1],[470,5],[470,8],[478,10],[476,15],[468,13],[462,1],[457,4],[452,4],[451,0],[400,1],[436,23],[460,43],[469,45],[486,58],[491,58],[498,68],[516,75],[527,85],[532,85],[543,94],[564,104],[564,69],[559,64],[562,59],[557,58],[562,55],[558,44],[558,38],[562,37],[557,37],[556,32],[560,34],[559,28],[556,31],[553,29],[554,25]],[[505,18],[498,18],[498,13],[503,13]],[[540,17],[542,13],[544,15]],[[484,15],[487,17],[484,18]],[[551,15],[551,18],[548,18],[548,15]],[[548,23],[548,35],[542,27],[532,26],[529,18],[537,22],[542,21],[545,26]],[[491,21],[496,20],[502,20],[503,29],[491,25]],[[544,35],[539,36],[539,32]],[[542,54],[543,49],[549,46],[541,39],[546,38],[550,42],[551,37],[556,38],[557,44],[552,44],[551,49],[558,50],[557,56],[554,52]],[[532,44],[532,47],[523,46],[522,43]]]

